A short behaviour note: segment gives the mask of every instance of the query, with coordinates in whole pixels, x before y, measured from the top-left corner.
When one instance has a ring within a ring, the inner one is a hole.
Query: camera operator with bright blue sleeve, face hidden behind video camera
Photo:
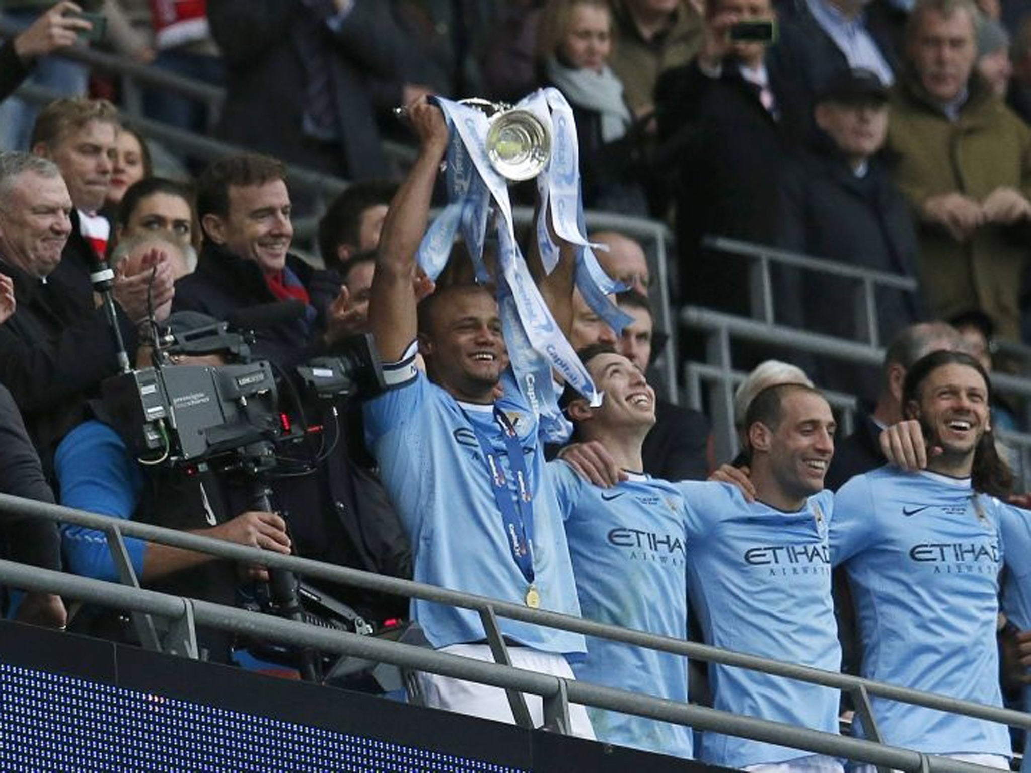
[[[145,254],[144,254],[145,256]],[[136,263],[141,255],[126,260]],[[196,312],[180,312],[168,320],[173,332],[187,333],[215,324]],[[141,346],[137,366],[149,363],[151,347]],[[222,355],[175,356],[172,365],[225,365]],[[123,439],[107,423],[106,409],[91,403],[96,417],[75,427],[58,445],[55,472],[61,503],[113,517],[156,524],[166,528],[289,553],[291,541],[286,522],[272,512],[246,510],[245,492],[220,480],[206,465],[190,468],[147,466],[135,460]],[[234,513],[238,513],[233,516]],[[86,577],[118,581],[119,574],[99,532],[66,526],[62,543],[70,571]],[[260,567],[238,572],[231,562],[207,553],[126,538],[126,548],[141,583],[148,589],[235,605],[241,579],[264,579]],[[243,576],[241,576],[241,574]],[[89,609],[72,620],[72,629],[84,633],[131,639],[127,620],[114,613]],[[214,630],[198,631],[198,644],[207,658],[228,662],[231,635]]]

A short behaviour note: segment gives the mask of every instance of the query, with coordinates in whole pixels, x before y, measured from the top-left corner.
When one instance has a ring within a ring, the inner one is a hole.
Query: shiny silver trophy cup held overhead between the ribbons
[[[552,156],[552,129],[530,110],[512,107],[504,102],[491,102],[479,97],[459,100],[487,115],[487,138],[484,145],[494,170],[507,180],[521,182],[536,177]],[[394,113],[404,119],[407,110],[395,107]]]

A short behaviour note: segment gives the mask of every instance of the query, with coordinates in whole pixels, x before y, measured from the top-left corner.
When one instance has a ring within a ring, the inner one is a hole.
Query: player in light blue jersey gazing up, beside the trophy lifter
[[[593,344],[580,360],[604,397],[597,408],[574,399],[566,409],[578,441],[600,443],[625,473],[611,489],[592,485],[564,462],[553,462],[559,504],[584,616],[678,639],[687,637],[684,496],[642,472],[642,444],[655,425],[655,391],[611,346]],[[659,600],[655,603],[650,600]],[[588,637],[576,677],[686,703],[688,661],[610,639]],[[691,729],[590,708],[599,740],[690,759]]]

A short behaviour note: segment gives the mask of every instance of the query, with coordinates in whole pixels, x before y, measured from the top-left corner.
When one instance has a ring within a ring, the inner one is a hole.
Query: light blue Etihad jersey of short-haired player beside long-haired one
[[[736,486],[676,484],[688,504],[688,584],[705,641],[718,647],[837,671],[831,600],[830,492],[801,510],[749,503]],[[713,706],[837,733],[837,690],[711,664]],[[705,733],[699,759],[729,768],[806,757],[787,746]]]

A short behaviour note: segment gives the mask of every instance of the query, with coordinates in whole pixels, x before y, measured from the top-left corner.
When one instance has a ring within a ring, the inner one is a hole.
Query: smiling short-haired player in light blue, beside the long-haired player
[[[837,671],[824,474],[834,452],[827,401],[802,384],[760,392],[744,421],[756,501],[723,483],[680,483],[689,505],[688,585],[706,643]],[[837,732],[836,690],[709,666],[713,706]],[[707,733],[699,759],[732,768],[840,771],[837,760]]]

